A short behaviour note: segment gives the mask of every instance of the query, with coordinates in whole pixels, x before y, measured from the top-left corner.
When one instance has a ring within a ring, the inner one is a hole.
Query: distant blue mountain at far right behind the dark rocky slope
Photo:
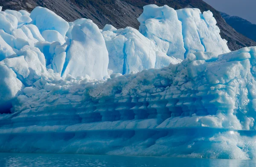
[[[220,13],[224,20],[237,32],[256,41],[256,24],[250,23],[249,21],[238,16],[230,16],[223,12]]]

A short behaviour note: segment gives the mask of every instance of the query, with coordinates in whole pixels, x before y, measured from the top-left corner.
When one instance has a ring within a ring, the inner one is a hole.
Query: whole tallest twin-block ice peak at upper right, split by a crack
[[[138,20],[140,32],[168,56],[184,59],[198,51],[230,52],[210,11],[202,14],[195,8],[175,11],[169,6],[148,5]]]

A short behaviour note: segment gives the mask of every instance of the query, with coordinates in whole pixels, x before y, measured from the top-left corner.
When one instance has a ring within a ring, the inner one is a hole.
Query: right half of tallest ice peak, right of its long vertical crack
[[[230,52],[227,42],[220,37],[220,30],[210,11],[201,14],[199,9],[186,8],[177,10],[177,14],[182,22],[186,54],[198,51],[211,51],[218,54]]]

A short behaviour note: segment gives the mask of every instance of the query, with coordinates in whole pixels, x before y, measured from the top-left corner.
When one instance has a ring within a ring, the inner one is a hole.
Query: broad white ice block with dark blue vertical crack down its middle
[[[109,52],[109,74],[137,73],[155,67],[156,48],[152,41],[131,27],[114,31],[102,31]]]

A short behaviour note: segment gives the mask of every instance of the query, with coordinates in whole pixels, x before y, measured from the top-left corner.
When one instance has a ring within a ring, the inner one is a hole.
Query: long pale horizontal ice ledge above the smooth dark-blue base
[[[143,120],[126,120],[126,121],[105,121],[105,122],[91,122],[79,123],[75,125],[32,125],[27,127],[16,128],[0,128],[0,134],[7,133],[41,133],[41,132],[80,132],[80,131],[97,131],[97,130],[170,130],[179,128],[201,128],[206,127],[201,123],[202,116],[194,117],[176,117],[170,118],[157,124],[157,119],[143,119]],[[209,128],[216,128],[220,130],[227,130],[223,127],[212,126]],[[231,130],[231,129],[229,129]]]

